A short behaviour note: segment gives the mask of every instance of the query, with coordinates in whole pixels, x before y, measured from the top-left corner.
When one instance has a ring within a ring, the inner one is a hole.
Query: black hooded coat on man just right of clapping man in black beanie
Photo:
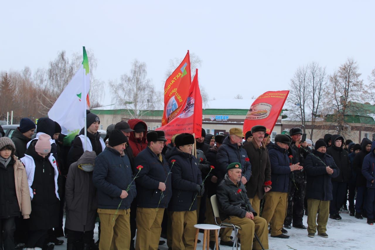
[[[348,152],[335,146],[335,140],[339,135],[332,136],[332,145],[327,148],[327,154],[333,157],[336,166],[340,169],[340,173],[336,178],[332,178],[332,181],[336,182],[348,182],[352,176],[351,164],[348,157]]]

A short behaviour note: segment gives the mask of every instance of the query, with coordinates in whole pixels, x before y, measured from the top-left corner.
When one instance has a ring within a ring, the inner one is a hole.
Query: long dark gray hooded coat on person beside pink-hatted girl
[[[94,151],[86,151],[69,167],[65,184],[65,227],[70,230],[84,232],[95,228],[98,199],[93,184],[93,172],[78,168],[80,164],[93,164],[95,157]]]

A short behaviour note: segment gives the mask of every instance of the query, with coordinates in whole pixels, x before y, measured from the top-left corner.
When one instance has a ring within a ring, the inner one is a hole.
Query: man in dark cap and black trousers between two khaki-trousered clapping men
[[[307,142],[301,142],[302,130],[301,128],[291,128],[289,134],[292,138],[290,149],[295,152],[293,154],[292,163],[300,163],[304,166],[305,158],[310,154],[311,149]],[[306,193],[306,176],[305,171],[293,171],[289,174],[289,195],[287,217],[284,220],[284,227],[291,228],[292,220],[293,227],[306,229],[303,225],[304,201]]]

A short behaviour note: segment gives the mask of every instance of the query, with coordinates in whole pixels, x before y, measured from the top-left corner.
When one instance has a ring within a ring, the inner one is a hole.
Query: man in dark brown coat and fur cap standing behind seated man
[[[251,177],[246,183],[252,207],[260,214],[260,200],[271,190],[271,163],[268,150],[263,143],[266,127],[257,125],[251,128],[253,138],[243,146],[251,163]]]

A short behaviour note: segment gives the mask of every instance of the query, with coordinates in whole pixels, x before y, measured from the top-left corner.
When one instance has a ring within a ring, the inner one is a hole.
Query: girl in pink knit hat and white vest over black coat
[[[60,178],[54,156],[51,154],[51,137],[40,134],[31,143],[21,161],[25,165],[31,209],[27,248],[41,250],[48,229],[58,227],[60,196],[57,179]]]

